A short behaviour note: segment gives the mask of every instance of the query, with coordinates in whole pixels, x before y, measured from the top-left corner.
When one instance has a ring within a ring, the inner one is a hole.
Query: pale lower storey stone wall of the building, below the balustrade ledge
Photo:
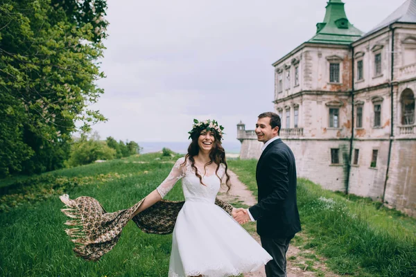
[[[345,191],[349,141],[283,139],[296,159],[297,176],[320,184],[329,190]],[[257,140],[243,140],[241,159],[259,159],[261,146]],[[331,164],[331,148],[340,149],[340,164]],[[358,164],[351,166],[349,193],[381,201],[388,164],[388,139],[357,140]],[[379,150],[376,166],[371,167],[372,150]],[[385,202],[393,208],[416,216],[416,140],[395,140],[392,143],[390,173],[385,190]]]

